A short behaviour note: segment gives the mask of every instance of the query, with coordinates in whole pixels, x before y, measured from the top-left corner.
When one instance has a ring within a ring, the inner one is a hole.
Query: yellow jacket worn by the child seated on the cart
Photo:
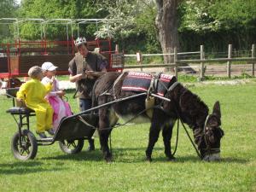
[[[20,90],[17,92],[17,98],[24,100],[28,108],[36,111],[39,103],[41,105],[44,105],[44,103],[49,105],[49,102],[45,100],[44,96],[51,89],[51,84],[44,85],[38,79],[31,79],[20,86]]]

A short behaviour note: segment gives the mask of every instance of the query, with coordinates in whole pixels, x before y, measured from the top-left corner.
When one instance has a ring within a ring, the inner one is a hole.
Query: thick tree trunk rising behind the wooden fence
[[[157,15],[155,25],[158,30],[163,54],[173,53],[174,47],[178,48],[177,38],[177,6],[180,0],[155,0]],[[173,56],[165,55],[165,63],[173,63]]]

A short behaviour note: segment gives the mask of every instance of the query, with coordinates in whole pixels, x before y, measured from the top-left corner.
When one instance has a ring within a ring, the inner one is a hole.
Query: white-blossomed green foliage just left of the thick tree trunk
[[[160,52],[157,32],[154,25],[156,15],[154,0],[104,1],[98,5],[114,20],[109,26],[111,37],[123,49]],[[104,37],[107,27],[102,26],[96,35]]]

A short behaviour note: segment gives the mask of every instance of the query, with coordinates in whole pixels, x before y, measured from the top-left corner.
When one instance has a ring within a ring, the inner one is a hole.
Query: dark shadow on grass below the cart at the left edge
[[[53,171],[61,171],[63,168],[44,168],[44,163],[41,162],[32,162],[32,161],[20,161],[15,163],[8,163],[8,164],[0,164],[0,175],[10,175],[10,174],[28,174],[34,172],[53,172]]]

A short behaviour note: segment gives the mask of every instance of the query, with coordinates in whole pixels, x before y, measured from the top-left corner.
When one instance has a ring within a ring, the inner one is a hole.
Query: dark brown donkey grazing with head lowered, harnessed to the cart
[[[116,99],[138,95],[136,91],[122,90],[127,75],[128,73],[109,72],[97,79],[93,90],[94,105],[102,105]],[[171,152],[171,138],[172,128],[177,119],[181,119],[193,130],[195,143],[202,160],[220,160],[220,140],[224,136],[224,131],[220,128],[219,102],[214,104],[212,113],[209,114],[207,105],[176,81],[176,78],[170,81],[164,94],[164,97],[171,102],[155,98],[152,117],[146,113],[146,95],[123,102],[115,102],[99,109],[98,131],[105,160],[112,160],[112,154],[108,147],[108,137],[113,125],[117,123],[119,118],[131,119],[138,114],[140,119],[151,121],[148,148],[146,149],[148,161],[152,161],[154,144],[158,140],[160,131],[162,131],[166,157],[168,160],[174,159]],[[170,89],[174,83],[177,85]]]

